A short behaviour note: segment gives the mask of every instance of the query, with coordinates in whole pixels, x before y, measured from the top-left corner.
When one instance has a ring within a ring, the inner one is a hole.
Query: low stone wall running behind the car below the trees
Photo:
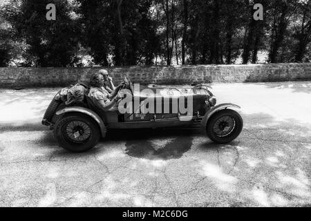
[[[0,87],[66,86],[89,79],[100,68],[0,68]],[[140,84],[265,82],[311,80],[311,63],[129,66],[106,68],[115,83],[123,76]]]

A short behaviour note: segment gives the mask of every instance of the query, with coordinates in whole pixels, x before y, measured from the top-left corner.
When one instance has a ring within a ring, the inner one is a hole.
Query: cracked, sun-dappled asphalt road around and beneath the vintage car
[[[212,86],[242,106],[231,144],[109,131],[79,154],[40,123],[58,88],[0,89],[0,206],[310,206],[311,81]]]

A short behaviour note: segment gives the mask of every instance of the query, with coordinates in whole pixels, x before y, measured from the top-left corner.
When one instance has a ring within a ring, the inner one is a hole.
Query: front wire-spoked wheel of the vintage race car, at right
[[[214,113],[206,126],[207,136],[218,144],[227,144],[240,135],[243,119],[236,111],[225,109]]]

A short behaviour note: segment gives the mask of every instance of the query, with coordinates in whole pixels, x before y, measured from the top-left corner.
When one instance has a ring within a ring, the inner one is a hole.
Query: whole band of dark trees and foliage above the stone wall
[[[56,21],[46,20],[48,3]],[[263,21],[253,19],[254,3]],[[82,66],[83,55],[100,66],[247,64],[262,51],[271,63],[308,62],[310,8],[305,0],[10,0],[0,8],[0,66]]]

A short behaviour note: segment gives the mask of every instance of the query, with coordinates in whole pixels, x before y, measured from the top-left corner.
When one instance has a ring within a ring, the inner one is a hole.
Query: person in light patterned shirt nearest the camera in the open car
[[[97,108],[102,109],[103,111],[113,111],[115,104],[121,99],[117,96],[118,91],[122,88],[124,83],[120,84],[109,93],[104,88],[104,75],[102,73],[95,73],[91,76],[90,90],[88,92],[88,97],[91,98],[93,104]]]

